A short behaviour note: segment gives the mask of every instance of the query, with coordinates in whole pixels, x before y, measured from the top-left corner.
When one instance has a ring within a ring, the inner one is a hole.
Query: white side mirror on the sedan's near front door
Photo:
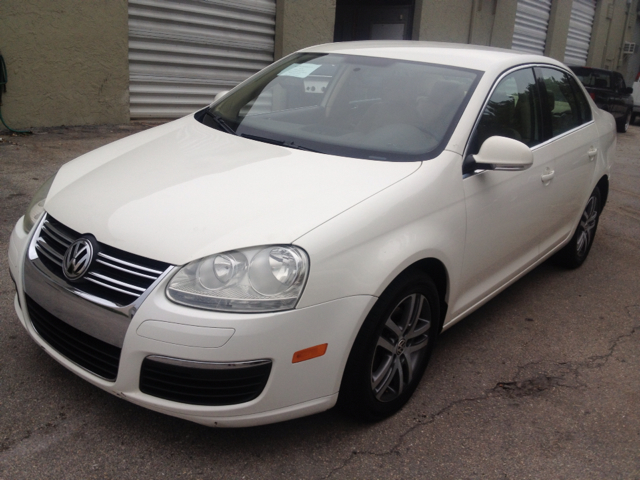
[[[471,158],[469,158],[471,157]],[[533,152],[524,143],[507,137],[487,138],[476,155],[465,159],[465,171],[526,170],[533,165]]]

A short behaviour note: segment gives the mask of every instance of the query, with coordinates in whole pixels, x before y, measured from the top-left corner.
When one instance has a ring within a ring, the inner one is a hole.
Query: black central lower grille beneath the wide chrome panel
[[[63,322],[27,296],[27,309],[38,335],[73,363],[106,380],[118,376],[120,349]]]

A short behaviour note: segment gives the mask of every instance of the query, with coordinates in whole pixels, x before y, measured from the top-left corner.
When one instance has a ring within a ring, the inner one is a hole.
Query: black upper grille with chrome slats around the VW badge
[[[69,245],[82,235],[55,220],[45,218],[35,249],[38,258],[57,277],[66,281],[62,261]],[[133,303],[167,268],[168,263],[134,255],[97,242],[96,257],[85,276],[74,282],[78,290],[124,306]]]

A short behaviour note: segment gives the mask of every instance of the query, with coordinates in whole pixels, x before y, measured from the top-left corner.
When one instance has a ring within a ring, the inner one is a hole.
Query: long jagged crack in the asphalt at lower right
[[[634,315],[631,310],[637,309],[640,312],[640,305],[628,305],[625,307],[625,309],[627,310],[628,315],[633,318],[636,315]],[[359,455],[368,455],[371,457],[387,457],[391,455],[401,456],[402,454],[400,453],[399,449],[403,443],[404,438],[407,435],[409,435],[419,427],[423,427],[425,425],[430,425],[434,423],[438,419],[438,417],[440,417],[447,411],[451,410],[452,408],[460,404],[469,403],[469,402],[480,402],[483,400],[489,400],[492,398],[500,398],[500,397],[524,397],[524,396],[531,396],[531,395],[539,395],[547,390],[550,390],[550,389],[552,390],[558,387],[571,388],[571,389],[586,388],[587,385],[578,380],[578,377],[580,375],[580,370],[583,368],[602,368],[613,356],[619,342],[624,338],[629,338],[633,336],[638,331],[640,331],[640,325],[636,325],[632,327],[629,333],[624,333],[617,336],[611,343],[611,346],[609,347],[608,351],[603,355],[592,355],[588,357],[586,360],[582,362],[577,362],[577,363],[550,362],[551,365],[560,367],[560,372],[558,372],[561,374],[560,376],[541,373],[541,374],[538,374],[537,376],[530,377],[524,380],[517,380],[523,371],[529,369],[530,367],[534,367],[536,365],[542,365],[545,362],[538,361],[538,362],[530,362],[525,365],[518,365],[518,371],[514,375],[513,380],[507,381],[507,382],[498,382],[495,387],[485,390],[484,393],[482,393],[477,397],[462,398],[462,399],[454,400],[448,403],[446,406],[444,406],[440,410],[438,410],[436,413],[433,413],[430,415],[422,414],[421,417],[423,417],[424,420],[418,420],[414,425],[412,425],[407,430],[399,434],[395,444],[391,446],[389,449],[387,449],[386,451],[370,452],[366,450],[363,450],[363,451],[353,450],[349,455],[349,457],[347,457],[340,465],[331,469],[331,471],[326,476],[321,478],[323,480],[331,478],[334,474],[346,468]],[[596,362],[598,363],[596,364]],[[573,378],[574,384],[564,382],[566,378],[565,378],[565,375],[562,375],[563,372],[566,372],[566,374],[572,374],[574,376]]]

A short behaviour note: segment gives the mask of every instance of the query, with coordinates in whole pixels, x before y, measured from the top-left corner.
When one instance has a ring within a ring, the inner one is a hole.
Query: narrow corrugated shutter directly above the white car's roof
[[[518,0],[511,48],[544,54],[551,0]]]

